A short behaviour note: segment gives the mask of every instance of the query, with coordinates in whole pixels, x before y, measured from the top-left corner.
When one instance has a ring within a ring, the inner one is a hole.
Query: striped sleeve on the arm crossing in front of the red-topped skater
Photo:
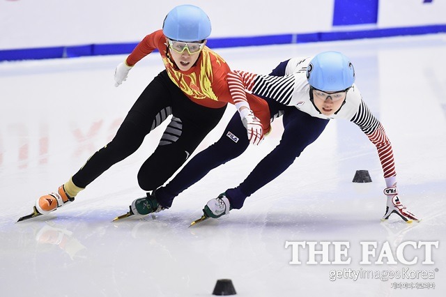
[[[254,95],[265,96],[284,105],[289,105],[293,97],[295,77],[294,75],[283,77],[256,75],[234,70],[228,73],[228,84],[235,102],[246,98],[245,91],[249,91]]]

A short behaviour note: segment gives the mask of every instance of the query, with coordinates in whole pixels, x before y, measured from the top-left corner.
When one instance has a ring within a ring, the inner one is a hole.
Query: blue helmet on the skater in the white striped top
[[[355,69],[344,54],[322,52],[309,62],[307,80],[321,91],[343,91],[355,82]]]

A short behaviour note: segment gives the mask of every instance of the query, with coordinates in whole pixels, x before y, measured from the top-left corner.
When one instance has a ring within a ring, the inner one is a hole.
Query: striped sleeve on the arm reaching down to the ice
[[[379,160],[383,167],[384,177],[396,176],[392,144],[390,144],[390,140],[385,135],[383,125],[371,114],[364,101],[361,100],[360,107],[351,121],[358,125],[362,132],[369,137],[371,143],[376,146]]]

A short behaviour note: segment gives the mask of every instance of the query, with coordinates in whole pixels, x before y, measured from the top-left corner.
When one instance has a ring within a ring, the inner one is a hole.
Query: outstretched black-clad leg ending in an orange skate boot
[[[94,153],[57,192],[40,197],[36,207],[47,213],[65,205],[109,167],[134,153],[148,132],[171,114],[169,89],[174,86],[165,71],[157,75],[134,103],[112,142]]]

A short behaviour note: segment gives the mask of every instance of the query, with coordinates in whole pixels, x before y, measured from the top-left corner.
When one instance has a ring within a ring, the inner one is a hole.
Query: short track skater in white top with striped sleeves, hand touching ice
[[[323,52],[314,57],[296,57],[279,63],[270,75],[236,70],[229,73],[228,82],[234,99],[245,98],[246,92],[265,98],[271,118],[283,116],[284,133],[280,143],[243,183],[208,201],[204,217],[220,218],[233,208],[242,208],[247,197],[282,174],[321,135],[328,121],[346,119],[359,126],[378,151],[386,184],[383,194],[387,197],[383,220],[395,213],[406,222],[420,221],[399,199],[392,145],[383,125],[362,100],[354,84],[353,64],[344,54]],[[169,208],[180,192],[245,151],[249,142],[242,137],[246,132],[237,118],[235,114],[215,144],[197,154],[174,179],[155,191],[158,203]]]

